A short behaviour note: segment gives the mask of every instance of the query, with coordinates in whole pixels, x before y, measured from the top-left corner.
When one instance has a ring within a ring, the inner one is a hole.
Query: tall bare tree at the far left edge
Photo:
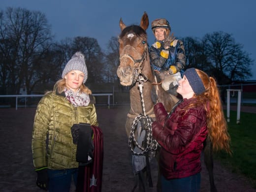
[[[0,26],[0,50],[3,62],[8,62],[11,79],[11,94],[19,94],[25,84],[27,93],[31,84],[37,81],[35,58],[38,59],[51,45],[51,28],[45,15],[38,11],[8,7],[3,14]],[[7,43],[6,43],[7,42]]]

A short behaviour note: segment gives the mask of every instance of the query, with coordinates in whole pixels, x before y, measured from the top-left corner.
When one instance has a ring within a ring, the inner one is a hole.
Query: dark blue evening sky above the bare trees
[[[179,37],[201,38],[206,33],[227,32],[255,60],[256,80],[256,0],[1,0],[0,7],[22,7],[45,13],[57,40],[88,36],[98,40],[101,48],[111,36],[120,33],[119,20],[126,25],[139,24],[143,12],[150,24],[166,18]],[[147,30],[149,43],[154,36]]]

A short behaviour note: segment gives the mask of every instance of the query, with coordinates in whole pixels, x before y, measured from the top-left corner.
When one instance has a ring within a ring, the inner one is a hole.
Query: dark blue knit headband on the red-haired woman
[[[198,76],[195,68],[189,68],[184,72],[184,75],[187,77],[190,86],[192,87],[193,92],[196,95],[200,95],[205,91],[205,87],[201,78]]]

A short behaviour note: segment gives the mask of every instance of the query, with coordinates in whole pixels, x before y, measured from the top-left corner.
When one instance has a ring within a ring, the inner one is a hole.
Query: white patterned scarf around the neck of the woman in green
[[[75,107],[88,106],[90,103],[90,97],[86,93],[80,93],[80,89],[74,93],[71,89],[64,88],[66,99]]]

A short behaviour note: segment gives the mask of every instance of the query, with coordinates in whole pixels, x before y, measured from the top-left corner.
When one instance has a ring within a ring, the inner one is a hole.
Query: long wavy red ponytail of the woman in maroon
[[[205,72],[195,69],[202,80],[205,91],[200,95],[194,95],[197,102],[188,106],[204,105],[207,111],[208,136],[213,144],[213,150],[224,150],[231,154],[230,136],[227,131],[227,123],[224,117],[223,106],[220,98],[219,89],[214,78],[209,77]]]

